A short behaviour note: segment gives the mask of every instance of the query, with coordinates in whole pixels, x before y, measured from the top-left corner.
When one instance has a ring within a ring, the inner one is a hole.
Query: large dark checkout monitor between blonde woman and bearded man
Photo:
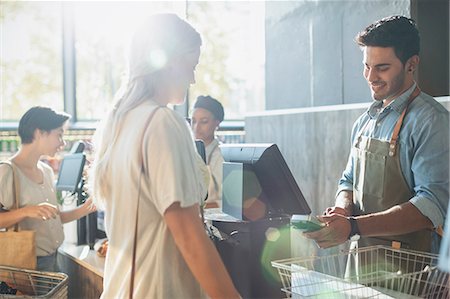
[[[276,144],[224,144],[222,210],[241,220],[311,209]]]

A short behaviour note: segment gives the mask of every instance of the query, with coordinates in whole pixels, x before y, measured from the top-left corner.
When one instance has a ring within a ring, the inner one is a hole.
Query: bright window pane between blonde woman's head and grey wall
[[[196,84],[197,96],[211,95],[225,108],[226,119],[264,110],[264,2],[192,1],[188,20],[203,39]]]

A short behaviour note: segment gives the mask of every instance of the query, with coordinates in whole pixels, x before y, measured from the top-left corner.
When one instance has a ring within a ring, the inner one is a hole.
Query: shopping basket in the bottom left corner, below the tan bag
[[[68,278],[64,273],[0,266],[0,282],[18,291],[16,295],[0,294],[0,298],[67,298]]]

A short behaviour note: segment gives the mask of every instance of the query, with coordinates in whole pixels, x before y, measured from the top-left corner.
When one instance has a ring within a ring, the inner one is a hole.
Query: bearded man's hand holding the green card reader
[[[326,226],[314,232],[304,232],[303,236],[316,241],[320,248],[337,246],[347,241],[351,227],[344,215],[333,213],[318,216],[317,219],[326,223]]]

